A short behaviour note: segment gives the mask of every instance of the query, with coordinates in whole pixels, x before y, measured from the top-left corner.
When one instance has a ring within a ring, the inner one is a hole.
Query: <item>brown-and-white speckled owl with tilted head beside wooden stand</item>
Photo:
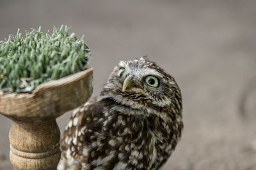
[[[121,61],[100,96],[73,111],[58,170],[159,169],[182,129],[174,78],[147,57]]]

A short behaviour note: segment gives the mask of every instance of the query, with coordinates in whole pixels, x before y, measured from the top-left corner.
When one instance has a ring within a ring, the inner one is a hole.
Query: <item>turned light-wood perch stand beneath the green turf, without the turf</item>
[[[60,160],[56,118],[88,101],[92,78],[90,68],[43,83],[31,94],[0,91],[0,113],[12,120],[10,160],[15,170],[56,170]]]

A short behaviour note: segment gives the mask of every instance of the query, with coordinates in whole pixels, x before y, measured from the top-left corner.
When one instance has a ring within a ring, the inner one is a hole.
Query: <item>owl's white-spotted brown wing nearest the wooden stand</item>
[[[102,132],[103,106],[93,98],[72,112],[60,141],[61,160],[58,170],[86,167],[88,151]],[[83,162],[83,164],[81,163]]]

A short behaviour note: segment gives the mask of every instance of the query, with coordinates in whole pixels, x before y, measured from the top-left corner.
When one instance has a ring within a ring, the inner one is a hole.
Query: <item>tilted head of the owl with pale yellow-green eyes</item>
[[[169,112],[180,114],[182,109],[174,78],[147,57],[121,61],[110,74],[101,96],[148,115],[170,109]]]

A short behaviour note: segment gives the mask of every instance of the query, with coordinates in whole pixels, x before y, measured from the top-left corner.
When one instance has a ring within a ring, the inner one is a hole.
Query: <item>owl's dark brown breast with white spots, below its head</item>
[[[145,117],[148,113],[139,113],[143,111],[120,105],[108,97],[99,102],[107,103],[107,110],[103,132],[88,154],[90,169],[157,169],[166,161],[175,148],[175,138],[180,137],[180,131],[173,131],[172,125],[181,126],[182,122],[170,124],[156,115]]]

